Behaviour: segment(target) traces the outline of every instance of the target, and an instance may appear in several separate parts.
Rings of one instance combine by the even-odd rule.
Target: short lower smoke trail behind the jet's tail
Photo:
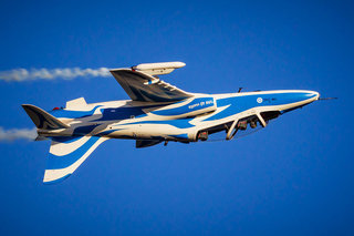
[[[4,130],[0,126],[0,142],[14,140],[33,141],[37,137],[37,129],[11,129]]]

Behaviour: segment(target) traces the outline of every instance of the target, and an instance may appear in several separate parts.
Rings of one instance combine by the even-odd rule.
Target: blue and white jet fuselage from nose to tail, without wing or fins
[[[267,114],[279,115],[317,99],[317,92],[303,90],[195,94],[175,103],[113,101],[50,114],[70,125],[60,136],[197,142],[201,131],[223,124],[222,130],[227,130],[233,121],[257,114],[267,122]],[[50,135],[48,131],[46,135]],[[58,131],[53,135],[59,135]]]

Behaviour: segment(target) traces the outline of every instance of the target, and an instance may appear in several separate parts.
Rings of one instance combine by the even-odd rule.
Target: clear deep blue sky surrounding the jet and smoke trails
[[[0,70],[184,61],[186,91],[305,89],[316,102],[253,135],[136,150],[108,141],[42,184],[49,142],[0,143],[1,235],[353,235],[352,1],[1,1]],[[0,81],[20,107],[128,99],[113,78]]]

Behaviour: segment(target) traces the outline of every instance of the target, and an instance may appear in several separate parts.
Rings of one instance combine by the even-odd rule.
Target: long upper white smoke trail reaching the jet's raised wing
[[[9,71],[0,71],[0,80],[3,81],[33,81],[33,80],[71,80],[79,76],[96,78],[110,76],[110,69],[80,69],[80,68],[63,68],[63,69],[14,69]]]

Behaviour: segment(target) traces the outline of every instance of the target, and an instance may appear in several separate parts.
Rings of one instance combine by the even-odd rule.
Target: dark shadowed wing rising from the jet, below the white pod
[[[116,69],[111,70],[111,73],[133,101],[174,102],[192,96],[192,94],[143,71]]]

